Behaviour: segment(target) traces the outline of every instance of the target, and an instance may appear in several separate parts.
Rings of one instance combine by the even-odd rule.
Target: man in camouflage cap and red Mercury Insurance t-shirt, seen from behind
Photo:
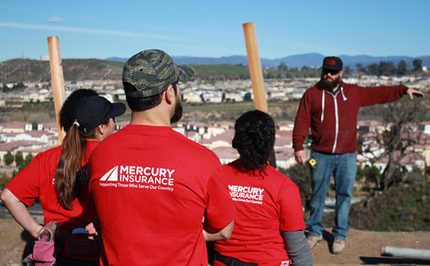
[[[131,122],[90,158],[103,263],[207,265],[205,240],[230,238],[235,209],[220,161],[171,128],[182,115],[178,82],[194,77],[161,50],[124,65]]]

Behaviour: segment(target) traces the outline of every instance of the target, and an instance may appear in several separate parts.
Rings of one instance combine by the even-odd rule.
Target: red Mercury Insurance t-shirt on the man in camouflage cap
[[[128,125],[90,157],[90,192],[109,265],[204,265],[202,219],[232,222],[220,161],[166,126]],[[102,265],[107,263],[102,261]]]

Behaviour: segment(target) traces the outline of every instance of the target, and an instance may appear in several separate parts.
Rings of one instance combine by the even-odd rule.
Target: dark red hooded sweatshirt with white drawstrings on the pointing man
[[[355,153],[358,109],[396,101],[407,89],[404,85],[360,87],[340,82],[333,95],[322,89],[318,82],[301,98],[294,122],[294,151],[303,150],[303,141],[310,127],[313,150],[330,154]]]

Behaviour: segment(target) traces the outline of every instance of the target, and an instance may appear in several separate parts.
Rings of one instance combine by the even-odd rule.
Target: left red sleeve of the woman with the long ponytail
[[[31,206],[39,198],[39,177],[43,170],[40,163],[43,161],[39,155],[34,157],[23,170],[6,184],[6,188],[26,206]]]

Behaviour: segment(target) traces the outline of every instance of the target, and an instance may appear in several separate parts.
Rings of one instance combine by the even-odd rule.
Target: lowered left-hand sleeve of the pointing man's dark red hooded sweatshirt
[[[308,136],[311,126],[311,103],[308,91],[301,98],[299,110],[297,111],[296,121],[293,130],[293,148],[297,152],[303,150],[303,142]]]

